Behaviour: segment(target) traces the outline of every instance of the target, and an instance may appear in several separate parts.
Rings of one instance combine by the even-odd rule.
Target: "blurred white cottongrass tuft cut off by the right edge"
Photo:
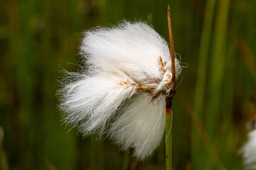
[[[256,130],[248,133],[248,140],[239,150],[246,170],[256,170]]]

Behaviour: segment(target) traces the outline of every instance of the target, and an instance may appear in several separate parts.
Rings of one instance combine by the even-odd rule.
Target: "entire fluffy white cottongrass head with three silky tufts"
[[[85,31],[80,53],[86,68],[68,73],[59,91],[64,122],[84,136],[108,133],[144,160],[164,133],[172,77],[166,41],[144,22],[123,21]],[[178,76],[178,60],[175,67]]]

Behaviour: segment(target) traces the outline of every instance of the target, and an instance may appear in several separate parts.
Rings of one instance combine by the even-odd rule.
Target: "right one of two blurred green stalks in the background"
[[[223,108],[223,80],[224,75],[226,76],[225,70],[225,60],[226,60],[226,29],[228,25],[229,16],[229,3],[230,0],[219,1],[218,13],[216,19],[216,26],[213,35],[212,42],[212,57],[210,61],[210,75],[209,75],[209,100],[208,100],[208,114],[205,117],[205,128],[209,135],[212,143],[216,145],[216,136],[220,129],[220,120],[222,119]],[[223,107],[223,108],[222,108]],[[226,113],[225,113],[226,114]],[[216,145],[217,147],[217,145]],[[218,147],[220,147],[218,145]],[[218,153],[219,154],[219,153]],[[213,170],[222,165],[215,165],[207,156],[207,161],[205,161],[205,169]],[[220,162],[222,163],[222,162]]]

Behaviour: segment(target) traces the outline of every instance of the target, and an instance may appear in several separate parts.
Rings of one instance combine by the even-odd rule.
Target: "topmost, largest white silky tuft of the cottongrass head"
[[[159,57],[171,62],[167,42],[143,22],[123,21],[111,28],[85,31],[80,54],[92,73],[123,70],[144,85],[151,85],[145,77],[161,79]],[[179,60],[175,60],[175,68],[178,76],[181,72]]]

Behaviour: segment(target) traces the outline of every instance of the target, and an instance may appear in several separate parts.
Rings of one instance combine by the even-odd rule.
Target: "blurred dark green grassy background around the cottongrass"
[[[83,30],[123,18],[147,20],[169,41],[168,3],[188,65],[173,103],[173,168],[242,170],[256,115],[255,0],[1,0],[0,169],[126,169],[112,141],[61,126],[58,67],[76,70]],[[137,169],[164,170],[164,143]]]

